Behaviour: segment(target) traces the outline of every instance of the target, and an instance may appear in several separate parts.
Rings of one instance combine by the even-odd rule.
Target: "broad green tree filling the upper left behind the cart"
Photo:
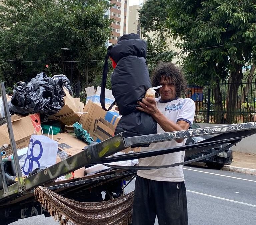
[[[93,60],[104,58],[111,36],[111,20],[105,16],[109,7],[108,0],[5,0],[0,6],[0,59],[17,62],[0,61],[2,79],[12,85],[47,70],[70,78],[70,62],[22,61],[87,60],[73,63],[72,71],[75,80],[92,80],[100,62]]]

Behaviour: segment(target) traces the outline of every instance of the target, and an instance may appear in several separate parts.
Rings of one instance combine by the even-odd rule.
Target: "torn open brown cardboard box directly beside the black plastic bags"
[[[80,102],[80,98],[73,98],[67,89],[63,88],[66,97],[64,97],[64,106],[62,109],[49,116],[48,120],[59,120],[65,125],[73,125],[78,122],[84,109],[84,103]]]

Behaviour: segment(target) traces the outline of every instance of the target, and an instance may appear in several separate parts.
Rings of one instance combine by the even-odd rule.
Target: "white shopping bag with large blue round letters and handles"
[[[50,127],[50,129],[52,131],[52,127]],[[49,167],[56,163],[58,142],[53,140],[53,134],[52,139],[49,138],[50,129],[48,132],[48,137],[43,135],[35,135],[35,132],[33,135],[31,135],[26,159],[22,169],[23,174],[26,176],[28,176],[31,171],[38,167]],[[42,127],[41,131],[43,134]]]

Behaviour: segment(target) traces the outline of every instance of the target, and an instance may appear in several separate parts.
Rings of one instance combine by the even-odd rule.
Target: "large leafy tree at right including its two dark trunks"
[[[147,8],[152,9],[156,2],[148,0]],[[180,64],[188,80],[197,84],[207,81],[211,85],[219,112],[215,118],[217,123],[224,122],[219,82],[229,78],[225,122],[236,122],[234,115],[242,68],[248,62],[255,63],[256,2],[161,0],[158,6],[161,9],[143,15],[142,21],[148,21],[144,23],[147,29],[165,27],[178,41],[176,46],[182,49]]]

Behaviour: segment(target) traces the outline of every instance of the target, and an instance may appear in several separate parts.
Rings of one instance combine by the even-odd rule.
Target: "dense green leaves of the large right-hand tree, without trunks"
[[[254,60],[256,38],[255,4],[250,0],[167,1],[167,26],[177,47],[183,51],[181,63],[192,81],[226,79],[228,73],[240,81],[240,70]],[[243,42],[238,43],[236,42]],[[218,46],[208,48],[211,46]]]

